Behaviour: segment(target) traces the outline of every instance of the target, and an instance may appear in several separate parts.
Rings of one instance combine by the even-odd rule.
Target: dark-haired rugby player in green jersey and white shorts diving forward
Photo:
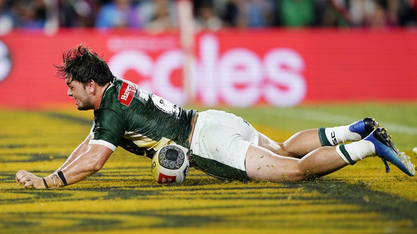
[[[49,176],[18,171],[16,181],[24,187],[75,184],[98,172],[118,146],[152,158],[167,144],[183,149],[191,166],[220,179],[304,180],[374,156],[382,158],[387,172],[387,162],[391,162],[407,175],[415,175],[409,157],[372,118],[304,130],[277,143],[241,117],[216,110],[187,110],[114,77],[103,58],[84,44],[64,52],[63,64],[55,67],[77,109],[94,110],[93,127]]]

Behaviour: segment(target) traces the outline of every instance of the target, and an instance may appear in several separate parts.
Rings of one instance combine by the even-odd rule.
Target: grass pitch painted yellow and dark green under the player
[[[399,149],[417,146],[416,104],[224,110],[281,142],[372,116]],[[417,178],[394,166],[386,174],[377,157],[305,182],[225,182],[191,169],[181,185],[160,185],[149,159],[117,149],[78,184],[24,189],[15,173],[45,177],[63,164],[90,131],[92,111],[0,110],[0,123],[1,234],[417,233]]]

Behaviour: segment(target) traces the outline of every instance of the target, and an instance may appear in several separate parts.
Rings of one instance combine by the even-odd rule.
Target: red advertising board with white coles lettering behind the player
[[[85,42],[114,75],[171,102],[186,102],[177,32],[16,30],[0,38],[0,105],[71,103],[53,64]],[[192,87],[202,105],[417,100],[413,30],[222,30],[196,35]]]

